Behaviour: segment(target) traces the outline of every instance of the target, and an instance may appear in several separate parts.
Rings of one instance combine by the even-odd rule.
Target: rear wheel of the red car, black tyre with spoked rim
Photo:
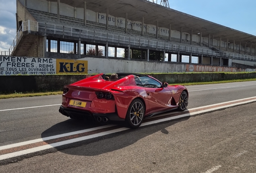
[[[134,99],[130,106],[128,107],[128,111],[126,113],[125,121],[127,125],[136,129],[140,127],[145,115],[145,105],[140,99]]]

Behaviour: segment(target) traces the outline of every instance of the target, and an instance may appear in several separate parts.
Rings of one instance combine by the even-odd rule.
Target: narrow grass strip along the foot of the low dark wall
[[[238,79],[238,80],[223,80],[223,81],[212,81],[212,82],[190,82],[190,83],[176,83],[170,85],[200,85],[200,84],[219,84],[219,83],[230,83],[230,82],[246,82],[254,81],[256,78],[252,79]],[[10,99],[10,98],[19,98],[19,97],[35,97],[35,96],[48,96],[48,95],[61,95],[63,91],[54,91],[54,92],[41,92],[41,93],[12,93],[12,94],[1,94],[0,99]]]

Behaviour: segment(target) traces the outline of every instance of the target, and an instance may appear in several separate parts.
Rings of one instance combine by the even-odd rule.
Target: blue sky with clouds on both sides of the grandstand
[[[160,3],[161,0],[155,0]],[[170,8],[256,35],[255,0],[169,0]],[[0,51],[16,35],[16,0],[0,0]]]

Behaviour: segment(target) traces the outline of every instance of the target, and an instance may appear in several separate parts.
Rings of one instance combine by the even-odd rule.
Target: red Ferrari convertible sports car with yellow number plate
[[[188,90],[169,86],[145,74],[117,73],[109,80],[98,74],[64,86],[59,112],[74,118],[91,117],[98,122],[126,121],[137,128],[146,117],[188,105]]]

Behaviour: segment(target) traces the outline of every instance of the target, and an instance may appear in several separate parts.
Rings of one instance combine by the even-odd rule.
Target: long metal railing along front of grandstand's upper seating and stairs
[[[114,34],[106,34],[102,32],[95,32],[90,30],[83,30],[78,28],[72,28],[67,26],[60,26],[55,24],[47,24],[42,22],[33,22],[26,21],[23,22],[21,28],[17,32],[17,36],[13,41],[13,45],[10,47],[10,52],[13,51],[17,42],[20,40],[22,36],[22,31],[36,31],[36,32],[44,32],[52,33],[52,34],[62,34],[65,36],[74,36],[80,38],[87,38],[91,40],[100,40],[105,42],[113,42],[126,44],[131,46],[144,46],[145,48],[157,48],[167,52],[181,52],[184,54],[194,54],[198,56],[213,56],[217,58],[229,58],[229,59],[238,59],[238,60],[250,60],[256,61],[256,57],[242,55],[242,54],[234,54],[227,52],[218,52],[213,50],[206,50],[201,48],[194,48],[189,46],[175,45],[164,42],[157,42],[152,40],[144,40],[139,38],[131,38],[127,36],[120,36]]]

